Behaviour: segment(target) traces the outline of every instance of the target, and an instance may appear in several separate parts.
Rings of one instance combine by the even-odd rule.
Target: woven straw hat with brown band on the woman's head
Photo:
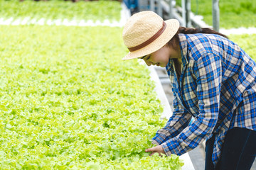
[[[153,11],[142,11],[131,16],[124,26],[122,37],[129,53],[122,60],[149,55],[164,47],[179,28],[178,20],[164,21]]]

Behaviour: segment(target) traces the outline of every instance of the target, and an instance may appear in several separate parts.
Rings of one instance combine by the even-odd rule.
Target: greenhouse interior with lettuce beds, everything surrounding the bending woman
[[[180,155],[145,152],[174,113],[174,92],[165,67],[122,60],[122,32],[153,11],[223,33],[256,61],[256,1],[0,4],[0,169],[205,169],[206,140]]]

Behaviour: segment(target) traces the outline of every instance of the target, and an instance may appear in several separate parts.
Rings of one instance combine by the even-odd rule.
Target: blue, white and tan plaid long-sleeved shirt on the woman
[[[256,64],[234,42],[215,34],[179,34],[181,76],[174,61],[166,70],[174,92],[174,113],[152,143],[167,155],[184,154],[216,133],[217,164],[228,130],[256,130]],[[192,116],[194,119],[191,121]]]

